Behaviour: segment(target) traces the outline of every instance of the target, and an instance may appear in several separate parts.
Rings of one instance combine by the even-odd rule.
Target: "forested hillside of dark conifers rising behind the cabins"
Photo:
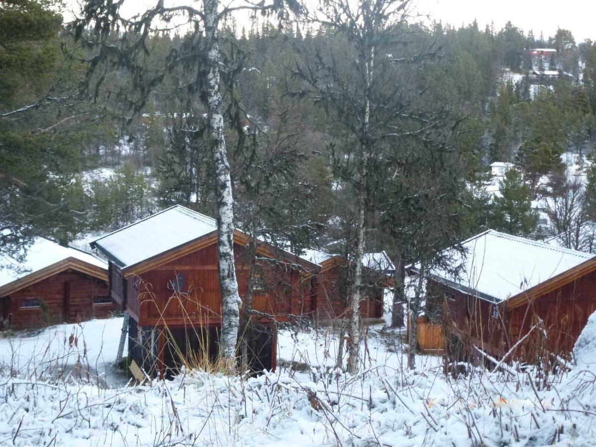
[[[142,54],[129,62],[134,65],[126,66],[105,52],[95,54],[86,32],[76,41],[61,15],[44,5],[7,2],[1,11],[4,28],[11,27],[0,53],[1,221],[11,237],[18,242],[44,234],[67,243],[174,203],[214,214],[207,109],[189,94],[195,75],[183,65],[188,36],[176,27],[149,35]],[[39,27],[17,18],[20,10]],[[243,26],[234,17],[221,25],[237,221],[284,234],[297,249],[353,239],[358,205],[348,198],[353,188],[361,189],[352,179],[366,176],[352,173],[362,163],[345,128],[349,119],[355,125],[361,120],[346,115],[358,106],[341,98],[356,101],[357,90],[322,91],[318,85],[326,70],[338,87],[358,89],[347,61],[359,50],[330,25],[317,23],[255,15]],[[380,36],[386,49],[377,54],[381,73],[370,86],[371,94],[383,98],[373,113],[390,107],[399,117],[378,117],[379,125],[393,130],[374,136],[379,147],[367,167],[374,172],[366,187],[368,247],[394,238],[375,217],[392,194],[385,188],[412,188],[412,179],[421,181],[417,171],[436,163],[432,157],[441,150],[448,159],[440,163],[452,166],[454,175],[431,175],[433,185],[414,188],[447,182],[443,187],[454,194],[454,206],[460,203],[470,213],[454,224],[456,238],[486,226],[510,229],[499,217],[502,204],[475,188],[486,181],[492,162],[515,164],[530,188],[529,200],[542,197],[541,188],[562,169],[562,154],[578,154],[589,166],[596,139],[592,42],[576,44],[568,30],[536,38],[511,23],[502,30],[408,23],[401,33],[411,44],[401,44],[390,31]],[[123,38],[131,51],[139,45],[131,32],[105,37],[114,44]],[[560,79],[530,85],[530,50],[543,47],[557,49],[548,64]],[[173,64],[172,55],[179,62]],[[139,84],[131,89],[133,82]],[[519,234],[565,231],[531,226]]]

